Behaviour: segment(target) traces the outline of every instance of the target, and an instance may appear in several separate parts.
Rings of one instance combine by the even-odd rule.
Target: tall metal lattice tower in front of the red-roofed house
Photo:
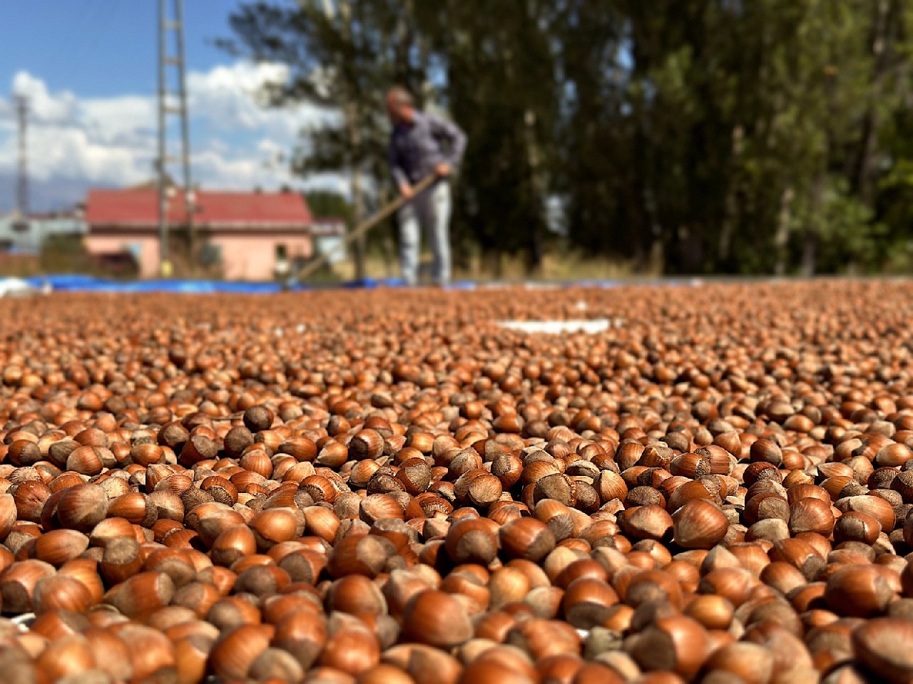
[[[187,88],[184,78],[184,7],[182,0],[172,0],[172,17],[169,18],[168,0],[159,0],[159,260],[163,276],[171,275],[168,238],[168,164],[179,161],[184,171],[184,206],[186,208],[187,238],[190,254],[194,254],[194,188],[190,177],[190,134],[187,123]],[[168,36],[173,35],[175,52],[169,53]],[[168,67],[177,74],[177,90],[168,85]],[[168,116],[176,114],[181,119],[181,154],[168,154]]]

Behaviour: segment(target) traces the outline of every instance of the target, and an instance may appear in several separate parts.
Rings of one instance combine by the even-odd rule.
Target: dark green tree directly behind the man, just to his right
[[[498,274],[501,254],[540,267],[548,240],[559,109],[553,3],[448,0],[421,18],[442,66],[442,102],[469,139],[456,194],[467,233]],[[495,20],[495,17],[498,17]],[[465,227],[469,230],[461,230]]]

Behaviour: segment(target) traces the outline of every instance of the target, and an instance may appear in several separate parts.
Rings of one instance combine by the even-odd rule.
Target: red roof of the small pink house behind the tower
[[[201,228],[305,228],[313,222],[298,192],[196,192],[194,225]],[[168,201],[168,223],[186,222],[184,192]],[[92,227],[155,227],[159,196],[154,188],[91,190],[86,223]]]

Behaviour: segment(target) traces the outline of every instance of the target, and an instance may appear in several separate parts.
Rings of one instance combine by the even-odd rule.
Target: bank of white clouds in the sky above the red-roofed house
[[[194,182],[208,188],[295,187],[342,189],[333,174],[301,179],[278,161],[299,144],[302,130],[316,130],[338,116],[329,109],[302,105],[268,109],[258,95],[264,83],[285,78],[278,65],[247,62],[187,74],[191,113]],[[130,185],[152,177],[157,155],[157,102],[152,95],[80,98],[51,92],[41,78],[20,71],[13,92],[29,99],[29,173],[38,181],[68,177],[104,185]],[[172,123],[176,124],[176,118]],[[177,127],[169,140],[177,150]],[[0,173],[16,169],[16,111],[0,99]],[[180,177],[178,169],[173,169]]]

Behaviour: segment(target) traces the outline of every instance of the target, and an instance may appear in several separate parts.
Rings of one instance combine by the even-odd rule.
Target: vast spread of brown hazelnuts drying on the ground
[[[0,316],[4,681],[913,680],[907,282]]]

